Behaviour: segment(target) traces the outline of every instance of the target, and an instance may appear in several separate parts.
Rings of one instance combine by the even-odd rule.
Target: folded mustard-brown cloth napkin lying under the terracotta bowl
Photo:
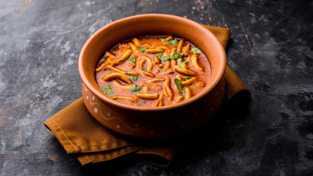
[[[204,25],[226,47],[230,30]],[[235,95],[247,96],[250,91],[230,67],[226,67],[224,103]],[[238,94],[246,92],[248,94]],[[87,111],[79,98],[45,123],[56,135],[65,151],[74,154],[83,166],[131,155],[156,166],[168,166],[188,135],[168,140],[139,140],[120,135],[102,126]]]

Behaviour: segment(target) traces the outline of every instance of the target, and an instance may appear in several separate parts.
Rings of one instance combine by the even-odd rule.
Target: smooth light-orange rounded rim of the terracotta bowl
[[[214,42],[215,44],[217,44],[217,46],[218,46],[217,49],[220,51],[218,53],[221,55],[221,56],[219,56],[219,58],[220,58],[222,64],[220,67],[215,67],[215,69],[217,69],[217,76],[215,76],[214,78],[211,77],[214,79],[213,82],[210,85],[206,85],[206,87],[204,87],[204,89],[202,89],[202,91],[200,91],[199,94],[197,94],[197,96],[194,96],[193,98],[191,98],[189,100],[186,100],[186,101],[183,101],[183,102],[180,102],[177,104],[169,104],[169,105],[166,105],[164,107],[135,107],[135,106],[131,106],[129,104],[123,104],[121,102],[111,100],[111,98],[105,96],[102,92],[100,92],[96,88],[94,88],[91,85],[91,83],[89,83],[89,81],[87,80],[87,76],[85,76],[85,72],[83,72],[83,59],[84,59],[83,55],[84,55],[85,50],[86,50],[87,46],[89,45],[89,43],[91,43],[91,41],[96,39],[98,37],[98,34],[100,34],[100,32],[102,32],[103,30],[106,30],[107,28],[110,28],[112,25],[116,25],[118,23],[124,23],[125,21],[129,21],[131,19],[149,18],[149,17],[160,17],[160,18],[165,17],[165,18],[171,18],[171,19],[174,19],[177,21],[181,21],[181,20],[186,21],[187,23],[190,23],[191,25],[195,25],[196,28],[199,28],[199,30],[202,30],[202,32],[205,32],[206,35],[211,36],[211,37],[209,37],[210,39],[213,39],[211,42]],[[209,58],[208,58],[208,60],[209,60]],[[212,91],[217,86],[217,84],[220,82],[220,80],[222,80],[222,77],[224,76],[225,69],[226,69],[226,53],[225,53],[224,47],[219,42],[219,40],[216,38],[216,36],[211,31],[207,30],[206,28],[204,28],[204,26],[202,26],[201,24],[199,24],[195,21],[192,21],[190,19],[186,19],[184,17],[178,17],[175,15],[171,15],[171,14],[139,14],[139,15],[126,17],[123,19],[119,19],[118,21],[114,21],[112,23],[109,23],[108,25],[105,25],[102,28],[100,28],[100,30],[95,32],[86,41],[86,43],[83,45],[82,50],[80,51],[79,58],[78,58],[78,72],[79,72],[80,78],[83,81],[83,83],[85,84],[85,86],[89,89],[89,91],[92,92],[92,94],[94,94],[97,98],[100,98],[100,100],[107,102],[111,105],[114,105],[115,107],[119,107],[122,109],[135,110],[135,111],[166,111],[166,110],[170,110],[170,109],[183,107],[183,106],[186,106],[187,104],[191,104],[191,103],[199,100],[200,98],[206,96],[207,94],[209,94],[210,91]]]

